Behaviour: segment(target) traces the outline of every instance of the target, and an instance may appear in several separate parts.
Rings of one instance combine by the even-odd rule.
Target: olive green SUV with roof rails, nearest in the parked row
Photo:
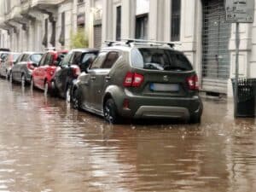
[[[112,42],[79,75],[73,108],[122,119],[201,121],[202,102],[195,70],[173,44]]]

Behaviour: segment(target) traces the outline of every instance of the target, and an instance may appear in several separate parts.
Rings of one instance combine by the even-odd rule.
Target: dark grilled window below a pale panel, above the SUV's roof
[[[136,38],[148,38],[148,14],[136,17]]]

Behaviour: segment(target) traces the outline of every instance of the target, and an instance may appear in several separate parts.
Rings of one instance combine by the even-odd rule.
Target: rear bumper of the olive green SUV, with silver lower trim
[[[129,108],[123,107],[124,100],[129,101]],[[203,105],[200,96],[193,97],[152,97],[120,96],[116,101],[119,115],[131,119],[189,119],[201,117]]]

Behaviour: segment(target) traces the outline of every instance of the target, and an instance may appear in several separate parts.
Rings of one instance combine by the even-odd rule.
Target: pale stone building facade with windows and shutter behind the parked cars
[[[224,0],[1,0],[0,45],[15,51],[69,49],[83,29],[90,47],[105,40],[177,42],[201,79],[201,90],[232,95],[234,24]],[[240,27],[241,77],[256,77],[256,20]]]

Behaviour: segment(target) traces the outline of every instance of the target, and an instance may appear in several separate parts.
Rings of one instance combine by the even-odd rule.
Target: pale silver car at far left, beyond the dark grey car
[[[3,57],[3,61],[0,66],[0,76],[9,79],[9,73],[14,66],[14,63],[19,58],[20,53],[9,53]]]

